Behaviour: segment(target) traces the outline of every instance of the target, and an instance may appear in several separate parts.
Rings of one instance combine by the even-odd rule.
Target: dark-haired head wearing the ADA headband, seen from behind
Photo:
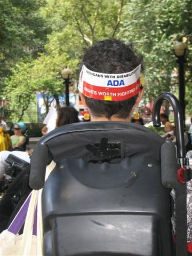
[[[83,72],[92,75],[93,80],[97,80],[95,83],[99,83],[98,76],[105,79],[106,74],[109,74],[108,79],[105,79],[108,81],[106,85],[102,87],[100,80],[100,84],[90,87],[94,89],[97,87],[97,90],[101,89],[100,92],[93,89],[90,95],[90,89],[78,87],[82,101],[85,107],[89,108],[91,117],[105,117],[108,120],[115,117],[130,121],[133,109],[139,105],[143,93],[139,78],[140,70],[143,71],[142,56],[133,49],[133,45],[126,45],[115,38],[100,41],[84,50],[81,68],[83,71],[79,82],[82,81]],[[130,85],[126,86],[126,91],[124,85]],[[84,93],[85,90],[88,93]],[[94,94],[97,94],[97,99]],[[103,96],[99,99],[101,94]]]

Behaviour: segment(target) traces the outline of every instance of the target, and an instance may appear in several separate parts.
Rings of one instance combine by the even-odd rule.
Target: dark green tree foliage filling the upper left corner
[[[0,1],[0,93],[4,78],[11,75],[14,67],[22,58],[37,58],[44,51],[47,33],[51,28],[39,14],[43,6],[37,0]]]

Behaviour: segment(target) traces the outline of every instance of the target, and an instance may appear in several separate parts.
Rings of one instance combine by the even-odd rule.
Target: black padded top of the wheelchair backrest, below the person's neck
[[[99,143],[107,137],[109,142],[122,142],[124,157],[146,156],[159,160],[159,148],[164,139],[148,128],[127,122],[85,122],[69,124],[46,134],[38,144],[45,144],[55,162],[62,158],[89,160],[85,146]]]

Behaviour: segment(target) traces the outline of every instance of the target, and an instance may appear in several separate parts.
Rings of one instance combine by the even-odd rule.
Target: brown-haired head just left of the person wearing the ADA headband
[[[73,107],[60,107],[58,108],[58,116],[56,120],[56,127],[66,124],[78,123],[78,111]]]

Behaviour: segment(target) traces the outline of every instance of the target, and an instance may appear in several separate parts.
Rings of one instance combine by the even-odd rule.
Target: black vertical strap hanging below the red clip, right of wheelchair
[[[175,188],[176,256],[187,256],[187,186],[178,182]]]

